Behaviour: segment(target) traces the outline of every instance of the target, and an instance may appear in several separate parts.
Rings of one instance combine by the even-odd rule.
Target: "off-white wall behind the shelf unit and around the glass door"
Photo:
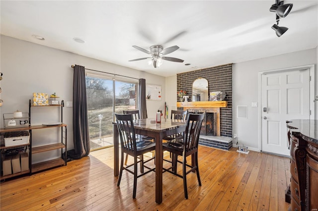
[[[65,103],[73,101],[72,64],[134,78],[145,78],[147,84],[160,85],[163,100],[147,101],[148,117],[155,118],[156,111],[164,108],[164,77],[3,35],[0,36],[0,53],[0,71],[3,72],[3,80],[0,81],[2,88],[0,99],[4,102],[0,107],[1,128],[3,128],[3,113],[12,113],[16,109],[28,112],[28,102],[33,92],[48,94],[55,92]],[[74,148],[73,108],[64,107],[63,115],[63,122],[68,125],[67,138],[68,150],[70,150]],[[45,117],[38,119],[38,122],[41,121],[48,122]],[[41,131],[41,133],[44,132],[46,131]],[[48,135],[43,135],[43,138],[48,139]]]

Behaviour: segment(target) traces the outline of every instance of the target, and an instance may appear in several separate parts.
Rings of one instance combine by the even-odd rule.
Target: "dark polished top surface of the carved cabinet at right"
[[[304,140],[318,144],[318,120],[292,119],[286,123],[292,134],[299,133]]]

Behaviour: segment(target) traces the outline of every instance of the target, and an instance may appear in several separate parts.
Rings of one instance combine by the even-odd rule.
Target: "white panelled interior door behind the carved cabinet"
[[[289,155],[286,120],[310,118],[310,71],[262,75],[262,151]]]

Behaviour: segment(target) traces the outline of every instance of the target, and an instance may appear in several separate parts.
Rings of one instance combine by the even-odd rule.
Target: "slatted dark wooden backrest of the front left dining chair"
[[[121,149],[136,153],[136,135],[132,114],[117,114],[116,122],[118,127]]]

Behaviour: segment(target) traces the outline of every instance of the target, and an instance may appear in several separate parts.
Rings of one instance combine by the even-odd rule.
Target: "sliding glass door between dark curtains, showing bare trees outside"
[[[137,82],[117,81],[104,76],[86,76],[90,150],[113,145],[114,112],[135,110]],[[115,97],[114,97],[115,96]]]

